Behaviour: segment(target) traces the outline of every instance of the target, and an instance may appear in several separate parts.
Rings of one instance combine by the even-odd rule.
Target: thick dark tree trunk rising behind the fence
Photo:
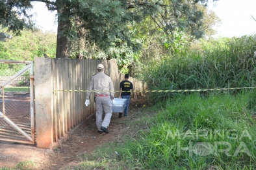
[[[70,9],[58,8],[57,52],[56,58],[68,58],[68,37],[70,30]]]

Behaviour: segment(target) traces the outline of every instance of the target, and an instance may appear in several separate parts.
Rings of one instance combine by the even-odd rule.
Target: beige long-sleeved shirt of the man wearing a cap
[[[90,84],[88,86],[88,92],[86,99],[89,99],[92,91],[96,95],[110,95],[110,99],[114,99],[114,86],[111,78],[108,75],[105,75],[103,72],[99,72],[96,75],[92,76]],[[98,92],[96,92],[98,91]]]

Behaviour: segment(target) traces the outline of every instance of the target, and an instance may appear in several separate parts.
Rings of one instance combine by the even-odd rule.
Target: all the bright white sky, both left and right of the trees
[[[55,25],[56,12],[48,12],[44,3],[33,2],[32,5],[34,5],[34,9],[31,12],[37,13],[33,18],[37,25],[42,30],[57,32],[57,25]],[[214,27],[217,30],[214,37],[239,37],[246,34],[255,34],[256,21],[253,18],[256,19],[256,0],[219,0],[209,3],[208,8],[214,10],[215,14],[222,19],[222,23],[218,27]]]

